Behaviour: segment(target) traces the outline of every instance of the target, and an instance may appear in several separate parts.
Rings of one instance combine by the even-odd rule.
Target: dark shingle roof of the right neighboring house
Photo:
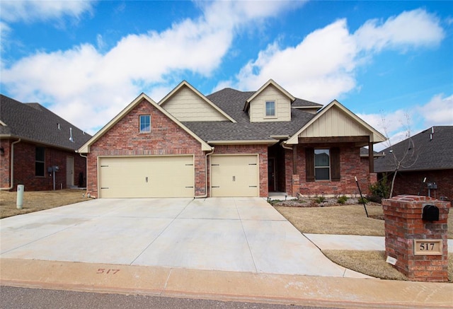
[[[382,151],[374,161],[374,173],[393,172],[396,160],[401,171],[453,169],[453,126],[425,129]],[[403,159],[404,158],[404,159]]]

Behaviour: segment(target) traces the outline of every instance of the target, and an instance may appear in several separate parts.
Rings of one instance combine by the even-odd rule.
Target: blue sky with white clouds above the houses
[[[2,94],[89,134],[183,80],[338,100],[375,150],[453,125],[453,1],[1,0],[0,53]]]

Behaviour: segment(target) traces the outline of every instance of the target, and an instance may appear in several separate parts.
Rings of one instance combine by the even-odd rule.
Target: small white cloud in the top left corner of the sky
[[[30,1],[6,0],[1,1],[1,20],[7,23],[25,21],[46,21],[63,16],[79,18],[82,13],[91,11],[92,1]]]

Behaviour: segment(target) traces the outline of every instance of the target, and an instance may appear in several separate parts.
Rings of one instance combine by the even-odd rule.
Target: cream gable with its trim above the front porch
[[[320,110],[313,119],[287,140],[287,144],[298,144],[299,137],[326,137],[326,136],[369,136],[372,143],[386,141],[386,137],[333,100]]]

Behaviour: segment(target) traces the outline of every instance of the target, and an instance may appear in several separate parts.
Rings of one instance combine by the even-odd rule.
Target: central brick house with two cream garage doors
[[[94,197],[268,197],[356,194],[377,180],[362,146],[385,140],[334,100],[294,98],[275,81],[258,91],[202,95],[183,81],[159,104],[139,95],[96,133]]]

